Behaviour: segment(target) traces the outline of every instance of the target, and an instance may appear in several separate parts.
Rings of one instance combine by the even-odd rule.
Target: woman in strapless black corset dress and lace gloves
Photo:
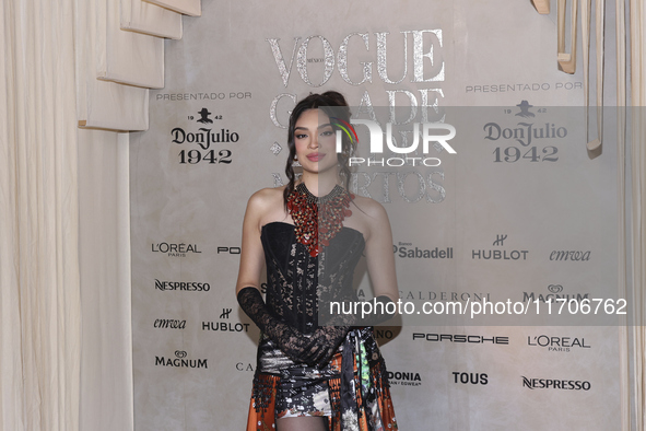
[[[332,316],[337,326],[319,325],[319,300],[356,300],[352,275],[363,254],[377,302],[398,300],[386,211],[347,191],[353,133],[342,133],[337,154],[336,130],[349,130],[349,123],[337,92],[301,101],[289,126],[290,183],[257,191],[247,205],[236,294],[262,331],[248,431],[397,429],[385,363],[366,326],[390,314],[367,322]],[[298,182],[295,161],[303,167]],[[259,291],[263,264],[267,304]]]

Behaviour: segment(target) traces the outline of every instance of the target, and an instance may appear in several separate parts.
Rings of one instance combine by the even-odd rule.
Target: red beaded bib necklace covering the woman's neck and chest
[[[312,257],[321,246],[330,245],[343,228],[343,220],[352,215],[350,202],[354,195],[337,185],[328,195],[316,197],[301,183],[287,198],[287,211],[296,225],[296,241],[307,246]]]

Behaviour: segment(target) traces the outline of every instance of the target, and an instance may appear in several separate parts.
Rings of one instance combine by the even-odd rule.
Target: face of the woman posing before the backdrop
[[[294,126],[294,143],[303,171],[320,174],[337,167],[336,133],[322,110],[301,114]]]

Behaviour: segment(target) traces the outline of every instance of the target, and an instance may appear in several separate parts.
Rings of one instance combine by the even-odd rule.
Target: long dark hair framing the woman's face
[[[336,117],[342,119],[345,123],[350,123],[350,107],[348,106],[348,102],[345,102],[345,97],[343,97],[341,93],[336,91],[327,91],[322,94],[310,94],[298,102],[294,109],[292,109],[292,115],[290,116],[290,128],[287,130],[287,147],[290,148],[290,155],[285,166],[285,174],[287,175],[289,183],[283,193],[285,207],[287,205],[287,198],[290,197],[290,194],[294,190],[294,183],[296,180],[296,174],[294,173],[293,167],[294,156],[296,155],[294,128],[296,127],[296,121],[301,115],[307,109],[321,109],[330,118]],[[338,127],[333,125],[332,128],[334,130],[338,129]],[[345,189],[349,189],[350,166],[348,161],[350,160],[350,154],[354,151],[354,143],[348,138],[345,133],[341,133],[341,137],[342,152],[337,154],[337,156],[339,160],[341,175],[345,177]]]

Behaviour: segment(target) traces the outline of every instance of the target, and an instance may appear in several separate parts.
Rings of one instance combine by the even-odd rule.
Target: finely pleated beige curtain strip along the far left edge
[[[81,350],[73,3],[0,8],[0,428],[77,430]]]

